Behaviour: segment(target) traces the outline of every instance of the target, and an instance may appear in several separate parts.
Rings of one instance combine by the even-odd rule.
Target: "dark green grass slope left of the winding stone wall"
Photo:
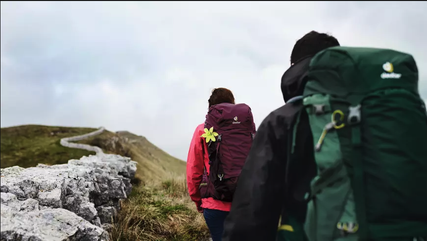
[[[71,149],[59,144],[61,138],[86,134],[96,129],[50,127],[39,125],[16,126],[0,129],[1,168],[18,165],[33,167],[39,163],[54,165],[79,159],[93,152]]]

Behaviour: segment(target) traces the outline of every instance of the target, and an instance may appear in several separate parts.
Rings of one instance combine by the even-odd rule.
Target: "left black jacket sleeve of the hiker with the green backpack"
[[[237,182],[223,241],[273,241],[285,196],[287,135],[273,111],[261,123]]]

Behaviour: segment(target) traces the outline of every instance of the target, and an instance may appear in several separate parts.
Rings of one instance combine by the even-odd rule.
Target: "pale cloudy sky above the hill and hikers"
[[[426,1],[1,1],[1,127],[100,127],[185,160],[213,88],[257,127],[311,30],[341,45],[411,53],[427,100]]]

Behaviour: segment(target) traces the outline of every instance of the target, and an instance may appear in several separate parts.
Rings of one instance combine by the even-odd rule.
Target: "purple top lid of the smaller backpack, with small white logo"
[[[206,115],[205,128],[219,129],[246,128],[251,129],[253,119],[251,108],[246,104],[221,103],[211,106]]]

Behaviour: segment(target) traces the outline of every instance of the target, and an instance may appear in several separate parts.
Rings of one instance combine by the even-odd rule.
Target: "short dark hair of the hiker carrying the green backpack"
[[[311,31],[295,43],[290,55],[290,63],[294,64],[305,57],[314,56],[321,50],[333,46],[339,46],[338,40],[333,36]]]

